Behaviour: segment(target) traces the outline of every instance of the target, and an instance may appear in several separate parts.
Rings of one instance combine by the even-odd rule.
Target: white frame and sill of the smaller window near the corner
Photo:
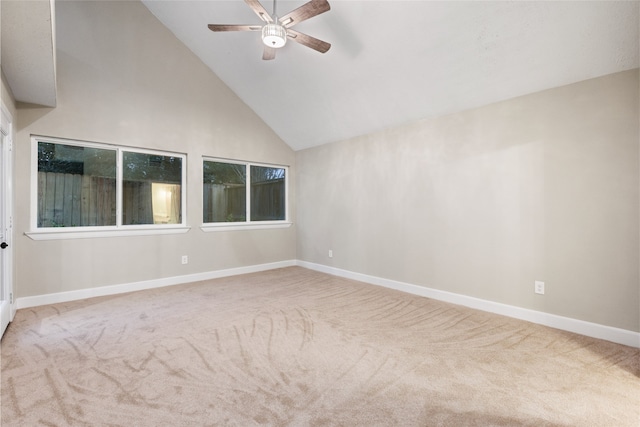
[[[244,161],[237,159],[225,159],[220,157],[203,156],[200,165],[202,167],[202,174],[200,176],[200,184],[202,185],[202,191],[200,192],[201,202],[204,208],[204,162],[217,162],[227,163],[234,165],[243,165],[246,168],[246,185],[245,185],[245,210],[246,220],[237,222],[204,222],[204,210],[202,211],[202,225],[200,229],[205,232],[212,231],[238,231],[238,230],[259,230],[269,228],[287,228],[292,225],[289,211],[289,166],[274,164],[274,163],[261,163]],[[251,220],[251,166],[277,168],[284,169],[284,219],[281,220],[269,220],[269,221],[252,221]]]

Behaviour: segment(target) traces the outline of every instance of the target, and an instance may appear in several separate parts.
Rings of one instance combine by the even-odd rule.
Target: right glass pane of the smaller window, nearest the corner
[[[284,168],[251,166],[251,221],[285,219]]]

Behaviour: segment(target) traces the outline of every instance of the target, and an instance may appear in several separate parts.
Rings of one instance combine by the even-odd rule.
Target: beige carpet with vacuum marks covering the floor
[[[640,351],[293,267],[19,310],[2,426],[634,426]]]

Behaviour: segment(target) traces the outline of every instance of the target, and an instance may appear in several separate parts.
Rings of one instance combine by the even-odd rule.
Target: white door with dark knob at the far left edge
[[[1,109],[0,122],[0,336],[13,319],[11,117]]]

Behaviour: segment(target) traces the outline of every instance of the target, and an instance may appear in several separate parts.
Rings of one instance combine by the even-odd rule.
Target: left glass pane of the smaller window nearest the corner
[[[203,222],[247,220],[247,167],[204,161]]]

